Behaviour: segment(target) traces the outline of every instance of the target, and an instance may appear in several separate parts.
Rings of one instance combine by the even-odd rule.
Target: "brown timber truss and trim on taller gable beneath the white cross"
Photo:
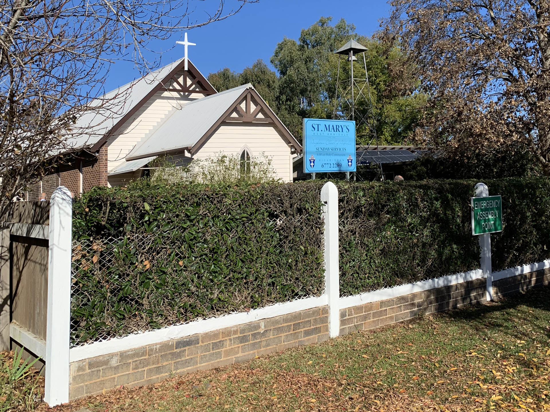
[[[182,85],[182,82],[180,82],[177,79],[177,74],[180,70],[184,69],[184,66],[185,66],[185,59],[182,59],[182,61],[177,65],[175,65],[172,71],[168,73],[168,75],[166,75],[164,79],[156,83],[156,85],[154,86],[152,85],[152,88],[149,91],[149,93],[147,93],[145,97],[138,102],[138,104],[134,105],[134,107],[131,108],[127,114],[122,116],[122,118],[120,118],[117,121],[117,123],[114,124],[111,130],[105,133],[105,135],[90,148],[90,151],[92,153],[97,152],[103,146],[103,144],[107,142],[108,138],[114,135],[119,129],[119,127],[121,127],[124,123],[126,123],[131,118],[131,116],[136,114],[136,112],[138,112],[138,110],[145,103],[147,103],[149,99],[151,99],[151,97],[155,96],[155,93],[157,93],[158,91],[162,90],[162,91],[179,92],[179,93],[186,93],[186,94],[200,93],[200,94],[204,94],[205,96],[210,96],[211,94],[217,93],[216,89],[210,84],[210,82],[208,82],[208,80],[205,79],[205,77],[201,74],[201,72],[197,70],[194,64],[191,63],[190,61],[188,61],[188,71],[186,71],[183,76],[184,84]],[[191,77],[191,79],[193,79],[189,83],[189,85],[187,84],[188,77]]]

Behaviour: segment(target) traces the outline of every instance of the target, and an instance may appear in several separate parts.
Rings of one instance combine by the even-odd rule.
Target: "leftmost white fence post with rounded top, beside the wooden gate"
[[[50,199],[50,251],[44,400],[54,407],[69,402],[70,285],[73,199],[59,186]]]

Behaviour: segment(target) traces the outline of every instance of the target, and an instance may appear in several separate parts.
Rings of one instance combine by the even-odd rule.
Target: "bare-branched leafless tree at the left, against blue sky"
[[[104,109],[98,98],[111,63],[131,59],[146,74],[160,60],[151,42],[226,19],[256,1],[4,0],[0,216],[29,183],[62,161],[52,154],[65,151],[79,115]]]

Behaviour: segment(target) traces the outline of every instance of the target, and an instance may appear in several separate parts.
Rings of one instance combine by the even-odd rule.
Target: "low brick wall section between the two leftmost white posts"
[[[169,374],[218,368],[328,339],[328,307],[250,322],[70,364],[70,398],[120,385],[148,385]]]

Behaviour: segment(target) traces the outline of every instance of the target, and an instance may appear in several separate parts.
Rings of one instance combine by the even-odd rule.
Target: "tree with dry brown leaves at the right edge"
[[[383,21],[431,95],[419,138],[466,156],[514,141],[550,175],[550,1],[392,0]]]

